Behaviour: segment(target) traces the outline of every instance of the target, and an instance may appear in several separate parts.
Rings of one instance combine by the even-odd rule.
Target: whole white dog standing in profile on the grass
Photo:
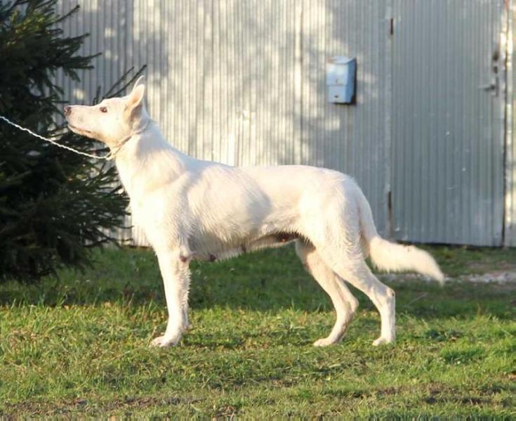
[[[412,270],[442,282],[430,254],[383,240],[371,208],[349,176],[329,169],[284,165],[228,167],[196,160],[168,143],[143,105],[136,82],[123,98],[65,107],[72,131],[95,138],[115,155],[133,221],[154,248],[163,276],[168,324],[155,346],[175,345],[187,328],[189,264],[296,242],[305,268],[329,294],[336,323],[315,346],[343,337],[358,302],[344,281],[364,292],[381,315],[381,336],[395,340],[395,293],[366,266]]]

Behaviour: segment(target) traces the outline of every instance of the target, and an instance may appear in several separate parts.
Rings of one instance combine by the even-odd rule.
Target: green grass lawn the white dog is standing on
[[[432,247],[451,276],[514,268],[516,250]],[[193,330],[166,324],[146,250],[95,252],[85,273],[0,285],[0,416],[516,415],[515,284],[389,282],[394,346],[371,346],[363,294],[348,335],[315,348],[331,304],[291,248],[192,264]]]

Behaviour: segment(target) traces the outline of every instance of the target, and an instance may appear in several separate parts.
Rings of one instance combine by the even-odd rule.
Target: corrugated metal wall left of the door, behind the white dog
[[[81,0],[68,34],[102,51],[84,83],[91,101],[126,67],[147,64],[147,105],[180,150],[227,164],[303,163],[355,176],[385,229],[388,21],[366,1]],[[106,9],[107,6],[107,9]],[[72,7],[62,1],[60,12]],[[326,103],[325,63],[357,56],[357,104]],[[373,169],[371,171],[371,169]],[[135,240],[142,242],[140,233]]]

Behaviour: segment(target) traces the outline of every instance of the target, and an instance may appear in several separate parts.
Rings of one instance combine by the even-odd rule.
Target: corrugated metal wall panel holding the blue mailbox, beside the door
[[[378,230],[387,228],[390,174],[388,2],[305,0],[302,8],[300,162],[357,179]],[[357,57],[357,103],[327,102],[326,60]]]

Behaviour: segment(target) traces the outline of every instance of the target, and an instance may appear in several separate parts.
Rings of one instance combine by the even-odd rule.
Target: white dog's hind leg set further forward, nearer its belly
[[[348,325],[355,315],[358,300],[353,297],[343,280],[324,263],[313,245],[307,244],[303,242],[303,240],[297,240],[296,252],[308,273],[317,280],[317,283],[319,283],[326,294],[329,295],[337,313],[336,322],[330,335],[318,339],[314,345],[327,346],[336,344],[342,339]]]

